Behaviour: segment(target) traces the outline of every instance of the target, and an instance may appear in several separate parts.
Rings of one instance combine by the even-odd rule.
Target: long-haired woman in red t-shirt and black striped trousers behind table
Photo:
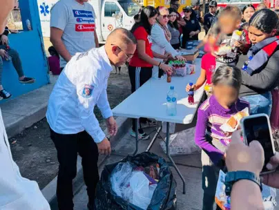
[[[158,11],[152,6],[145,7],[140,13],[140,21],[135,23],[132,27],[131,32],[137,39],[137,50],[128,66],[128,73],[132,86],[132,93],[140,88],[145,82],[152,77],[152,68],[153,66],[158,66],[164,72],[171,72],[172,69],[170,66],[156,61],[154,57],[159,59],[167,59],[168,55],[160,55],[151,50],[152,41],[151,41],[151,28],[156,22]],[[140,119],[140,122],[145,124],[152,124],[148,119]],[[131,131],[131,136],[135,137],[135,126],[136,120],[133,120],[133,127]],[[144,133],[141,128],[139,129],[139,139],[147,140],[148,135]]]

